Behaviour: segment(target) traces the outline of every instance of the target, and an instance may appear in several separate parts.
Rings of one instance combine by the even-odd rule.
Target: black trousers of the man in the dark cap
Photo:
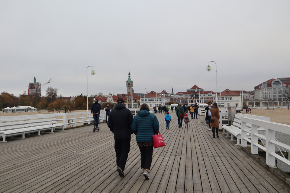
[[[124,170],[130,152],[131,139],[115,139],[115,152],[117,166]]]

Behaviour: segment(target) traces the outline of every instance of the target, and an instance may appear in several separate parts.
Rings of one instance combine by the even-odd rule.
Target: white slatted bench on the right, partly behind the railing
[[[241,145],[240,140],[241,140],[241,117],[252,117],[255,119],[262,119],[262,120],[270,120],[269,117],[262,117],[262,116],[256,116],[256,115],[246,115],[246,114],[236,114],[234,117],[234,122],[233,125],[223,125],[223,134],[226,134],[226,137],[231,137],[230,141],[236,141],[234,140],[234,137],[237,138],[237,144],[236,145]],[[251,130],[251,125],[247,123],[247,129],[250,131]],[[265,131],[264,128],[259,128],[259,131]],[[229,133],[231,134],[229,136]],[[247,132],[247,136],[250,136],[250,133]]]

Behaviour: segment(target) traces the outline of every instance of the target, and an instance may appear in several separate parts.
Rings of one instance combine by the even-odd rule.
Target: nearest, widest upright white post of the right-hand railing
[[[271,139],[275,140],[275,131],[266,128],[266,164],[268,166],[276,166],[275,157],[270,155],[271,152],[275,153],[275,144],[269,142]]]

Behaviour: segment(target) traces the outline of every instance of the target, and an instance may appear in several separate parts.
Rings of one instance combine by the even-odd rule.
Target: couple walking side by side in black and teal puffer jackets
[[[156,115],[150,113],[149,106],[143,103],[138,115],[133,115],[125,107],[122,98],[118,98],[114,109],[109,113],[108,127],[114,134],[117,172],[124,176],[124,169],[130,152],[131,134],[136,135],[137,146],[140,150],[142,173],[145,179],[149,178],[153,155],[152,136],[159,131],[159,122]]]

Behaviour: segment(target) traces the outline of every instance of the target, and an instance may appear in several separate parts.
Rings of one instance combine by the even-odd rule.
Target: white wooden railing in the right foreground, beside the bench
[[[251,124],[251,129],[247,128],[247,123]],[[259,134],[258,128],[265,128],[265,134]],[[290,161],[285,159],[276,153],[276,146],[282,147],[283,149],[290,150],[290,146],[281,143],[275,139],[275,131],[281,132],[283,134],[290,134],[290,125],[285,125],[281,123],[275,123],[270,121],[264,121],[259,119],[254,119],[250,117],[241,117],[241,144],[242,147],[247,147],[247,142],[251,144],[252,154],[258,154],[258,149],[266,151],[266,164],[268,166],[276,166],[275,158],[281,160],[288,166],[290,166]],[[247,137],[247,132],[251,134],[251,137]],[[258,138],[266,141],[265,146],[258,143]]]

